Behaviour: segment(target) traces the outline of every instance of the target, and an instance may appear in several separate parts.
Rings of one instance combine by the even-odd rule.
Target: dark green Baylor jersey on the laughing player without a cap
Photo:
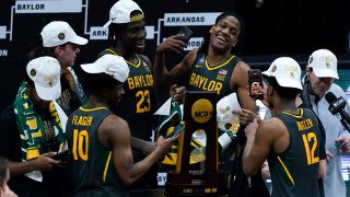
[[[217,101],[234,92],[231,86],[231,77],[234,67],[241,61],[231,56],[222,63],[209,67],[205,55],[198,55],[190,68],[186,90],[212,91],[217,93]]]

